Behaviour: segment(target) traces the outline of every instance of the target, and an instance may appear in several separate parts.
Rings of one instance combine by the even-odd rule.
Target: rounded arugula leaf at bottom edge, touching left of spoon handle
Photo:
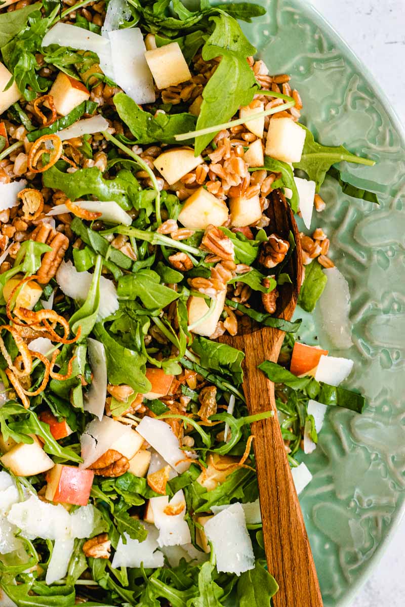
[[[278,589],[273,575],[256,561],[254,569],[243,572],[237,583],[239,607],[270,607]]]

